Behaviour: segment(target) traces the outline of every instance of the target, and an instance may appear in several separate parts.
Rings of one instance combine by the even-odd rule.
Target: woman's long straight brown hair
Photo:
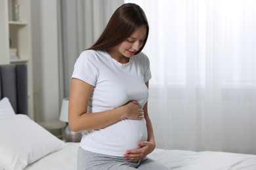
[[[144,48],[148,39],[148,20],[139,5],[135,3],[125,3],[116,9],[98,40],[88,49],[108,50],[123,42],[142,25],[146,26],[146,38],[144,44],[136,54]]]

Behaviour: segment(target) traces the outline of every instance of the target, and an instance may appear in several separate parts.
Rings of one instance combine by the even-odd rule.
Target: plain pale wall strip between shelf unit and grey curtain
[[[59,115],[57,0],[31,1],[35,121]]]

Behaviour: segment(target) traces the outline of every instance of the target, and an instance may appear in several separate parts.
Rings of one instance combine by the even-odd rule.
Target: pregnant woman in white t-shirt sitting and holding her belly
[[[72,75],[69,125],[83,131],[77,169],[167,169],[146,156],[156,146],[148,116],[150,62],[141,52],[148,22],[139,5],[121,5]]]

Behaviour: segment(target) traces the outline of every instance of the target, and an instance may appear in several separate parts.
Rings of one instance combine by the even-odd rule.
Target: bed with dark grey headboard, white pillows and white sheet
[[[26,65],[0,65],[0,170],[76,169],[79,143],[64,143],[28,117]],[[256,169],[256,155],[156,148],[170,169]]]

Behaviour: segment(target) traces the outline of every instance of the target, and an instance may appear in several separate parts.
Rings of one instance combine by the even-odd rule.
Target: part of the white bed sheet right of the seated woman
[[[175,170],[256,170],[256,155],[156,149],[148,155]]]

